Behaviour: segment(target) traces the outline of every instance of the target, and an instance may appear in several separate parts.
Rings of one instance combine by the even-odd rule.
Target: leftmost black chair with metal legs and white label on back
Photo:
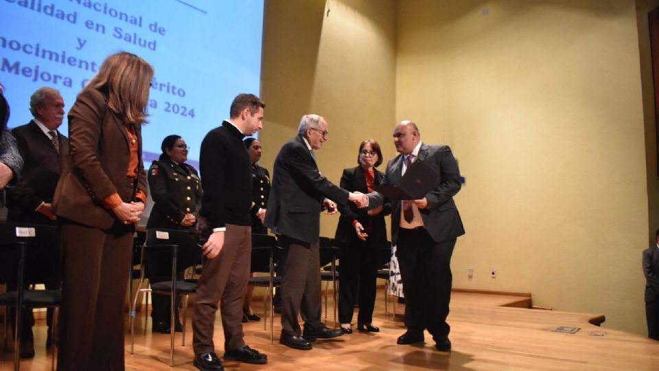
[[[51,368],[55,369],[55,328],[58,307],[62,304],[60,290],[29,290],[25,288],[25,270],[30,251],[43,251],[58,243],[57,227],[49,225],[3,224],[0,225],[0,282],[16,286],[16,290],[0,294],[0,305],[5,311],[5,351],[7,350],[9,308],[16,309],[14,321],[14,370],[21,361],[21,325],[23,308],[54,308],[51,326]]]

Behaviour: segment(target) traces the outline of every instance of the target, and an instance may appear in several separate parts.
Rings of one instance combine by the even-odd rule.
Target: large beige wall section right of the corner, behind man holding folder
[[[397,15],[396,117],[450,144],[466,178],[454,286],[529,291],[642,333],[634,2],[400,1]]]

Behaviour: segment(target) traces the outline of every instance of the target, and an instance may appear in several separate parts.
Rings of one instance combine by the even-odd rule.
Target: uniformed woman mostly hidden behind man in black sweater
[[[263,225],[263,219],[266,217],[268,195],[270,194],[270,172],[258,164],[262,154],[261,143],[252,137],[245,139],[244,142],[252,161],[252,207],[249,210],[252,217],[252,233],[268,234],[268,228]],[[264,267],[252,267],[251,271],[262,271],[263,269]],[[242,322],[261,319],[254,314],[251,308],[253,291],[254,286],[247,287],[242,308]]]

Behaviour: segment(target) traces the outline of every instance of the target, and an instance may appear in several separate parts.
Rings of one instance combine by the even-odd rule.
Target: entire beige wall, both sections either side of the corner
[[[659,186],[646,171],[654,111],[636,12],[634,1],[266,0],[263,163],[300,115],[319,113],[331,132],[319,165],[338,182],[361,139],[389,159],[393,123],[415,120],[466,178],[454,286],[529,291],[644,333],[640,251]],[[336,216],[322,220],[332,236]]]

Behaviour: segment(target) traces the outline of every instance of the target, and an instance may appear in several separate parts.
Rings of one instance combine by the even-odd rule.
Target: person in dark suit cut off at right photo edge
[[[655,245],[643,250],[643,274],[647,337],[659,340],[659,229],[655,238]]]

